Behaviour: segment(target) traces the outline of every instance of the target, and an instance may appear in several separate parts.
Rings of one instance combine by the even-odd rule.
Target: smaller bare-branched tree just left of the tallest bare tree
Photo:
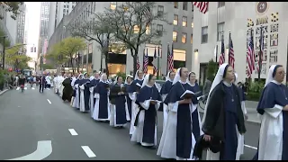
[[[67,29],[74,37],[81,37],[89,41],[95,40],[99,44],[98,48],[101,50],[101,54],[105,57],[106,74],[109,76],[108,53],[113,52],[119,54],[126,49],[126,46],[119,41],[117,42],[115,39],[113,35],[115,30],[112,28],[111,24],[107,22],[108,17],[105,14],[98,13],[94,14],[94,16],[93,20],[87,22],[71,23]]]

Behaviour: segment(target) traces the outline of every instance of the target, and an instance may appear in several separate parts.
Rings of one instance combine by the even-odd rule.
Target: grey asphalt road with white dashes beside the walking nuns
[[[162,134],[162,112],[158,112],[157,140]],[[51,90],[40,94],[30,87],[0,96],[0,159],[31,154],[40,140],[51,140],[52,153],[45,160],[161,160],[156,149],[130,142],[129,128],[115,129],[96,122],[63,103]],[[259,125],[247,122],[246,144],[257,147]],[[73,134],[73,135],[72,135]],[[241,159],[251,159],[255,148],[245,147]],[[88,157],[90,156],[90,157]]]

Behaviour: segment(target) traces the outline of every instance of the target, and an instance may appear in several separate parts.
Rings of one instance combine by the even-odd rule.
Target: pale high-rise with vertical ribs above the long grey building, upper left
[[[49,31],[48,38],[51,37],[55,28],[62,18],[70,14],[75,7],[76,2],[49,2]]]

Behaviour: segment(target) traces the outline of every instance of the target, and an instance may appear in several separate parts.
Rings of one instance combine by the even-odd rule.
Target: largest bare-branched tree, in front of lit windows
[[[160,22],[171,24],[166,21],[166,13],[153,14],[152,10],[155,8],[155,2],[123,2],[115,9],[106,9],[104,12],[108,17],[105,22],[114,30],[116,39],[121,40],[127,49],[130,49],[134,75],[137,69],[139,46],[144,43],[161,44],[158,38],[165,33],[151,28],[156,27]]]

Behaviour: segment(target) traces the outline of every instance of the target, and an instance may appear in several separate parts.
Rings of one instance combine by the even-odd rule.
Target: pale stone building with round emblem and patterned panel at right
[[[193,28],[193,71],[200,74],[199,82],[204,81],[205,65],[214,56],[218,45],[218,62],[220,56],[220,37],[224,33],[226,62],[228,62],[229,31],[233,41],[235,70],[238,81],[247,78],[247,44],[252,37],[256,60],[260,45],[260,29],[264,31],[264,54],[260,77],[266,78],[268,69],[273,64],[287,66],[288,49],[288,4],[282,2],[210,2],[206,14],[194,12]],[[257,62],[255,62],[257,66]],[[257,70],[251,78],[257,79]],[[286,76],[287,79],[287,76]]]

